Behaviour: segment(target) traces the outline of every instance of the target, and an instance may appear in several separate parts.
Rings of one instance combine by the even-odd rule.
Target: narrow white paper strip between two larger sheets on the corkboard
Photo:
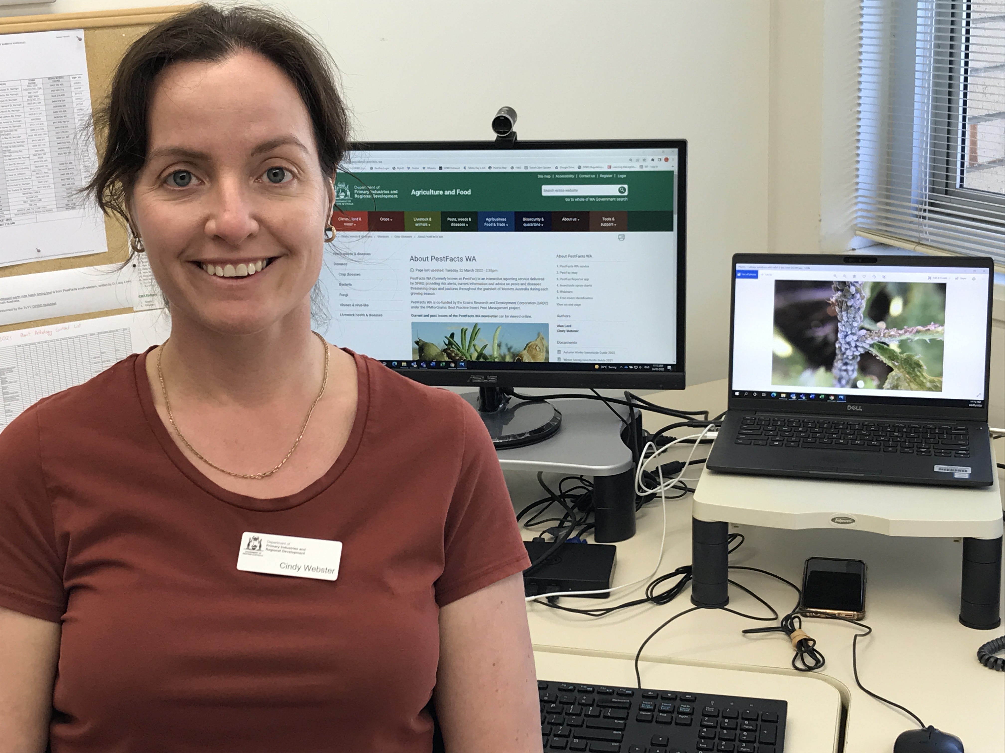
[[[145,311],[163,305],[147,257],[142,254],[125,267],[109,264],[0,277],[0,326],[116,308]]]

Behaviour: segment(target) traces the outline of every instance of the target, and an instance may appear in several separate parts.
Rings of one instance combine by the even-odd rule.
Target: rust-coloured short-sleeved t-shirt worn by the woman
[[[438,609],[529,562],[457,396],[356,355],[324,477],[207,479],[133,355],[0,435],[0,605],[62,622],[52,753],[428,751]],[[236,569],[244,531],[343,542],[336,581]]]

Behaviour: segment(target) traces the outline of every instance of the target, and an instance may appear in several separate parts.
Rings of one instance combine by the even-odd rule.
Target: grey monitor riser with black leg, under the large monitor
[[[462,393],[461,397],[477,408],[481,393]],[[594,541],[613,543],[634,536],[635,464],[621,438],[623,427],[617,417],[604,404],[591,400],[563,401],[561,414],[547,403],[521,402],[510,410],[520,413],[531,409],[540,411],[538,420],[552,413],[558,420],[547,442],[506,448],[496,445],[502,470],[592,477]],[[484,413],[481,416],[485,418]],[[491,414],[485,425],[490,421]],[[558,431],[560,425],[562,431]]]

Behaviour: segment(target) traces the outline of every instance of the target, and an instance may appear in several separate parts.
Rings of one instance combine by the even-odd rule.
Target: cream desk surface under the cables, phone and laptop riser
[[[725,382],[720,382],[650,399],[684,410],[709,408],[718,413],[723,410],[725,392]],[[651,415],[645,423],[648,429],[661,425],[659,417]],[[1005,456],[1000,443],[997,450],[999,457]],[[507,481],[518,507],[541,496],[533,474],[508,472]],[[666,541],[659,573],[690,562],[690,520],[689,497],[667,501]],[[617,545],[615,585],[642,578],[652,571],[659,554],[662,523],[658,501],[649,503],[639,513],[638,533]],[[1005,750],[1005,676],[985,669],[975,658],[978,647],[999,636],[1001,631],[972,631],[957,618],[961,541],[888,537],[854,530],[788,531],[749,525],[734,525],[731,531],[746,536],[744,545],[731,557],[731,565],[762,567],[796,583],[801,580],[803,561],[808,556],[863,559],[868,565],[865,622],[874,631],[872,636],[858,642],[859,676],[865,686],[907,706],[926,724],[960,736],[968,753]],[[525,535],[530,538],[533,533],[527,531]],[[795,604],[795,592],[773,578],[745,571],[733,571],[731,578],[752,588],[783,614]],[[610,599],[564,601],[574,606],[606,606],[637,598],[641,592],[641,587],[635,587]],[[633,656],[646,636],[662,621],[689,607],[688,594],[689,591],[684,591],[663,606],[636,606],[599,618],[530,604],[531,634],[539,652],[573,651],[623,660],[626,655]],[[731,607],[752,614],[766,613],[762,605],[739,589],[731,586],[730,595]],[[646,664],[642,682],[658,685],[661,678],[672,678],[677,665],[666,662],[735,670],[791,670],[793,652],[784,636],[741,635],[746,628],[762,624],[767,623],[719,610],[685,614],[663,629],[646,647],[643,657],[653,661]],[[848,708],[845,750],[889,753],[896,736],[911,729],[914,722],[901,712],[868,698],[855,686],[851,638],[856,629],[825,619],[808,619],[804,629],[817,640],[817,648],[827,659],[822,672],[815,674],[825,676],[840,689]],[[651,669],[657,665],[658,669]],[[801,748],[787,750],[796,753]]]

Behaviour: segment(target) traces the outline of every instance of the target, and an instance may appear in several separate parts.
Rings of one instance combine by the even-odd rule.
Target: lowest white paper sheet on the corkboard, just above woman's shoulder
[[[163,342],[165,309],[0,332],[0,431],[42,398]]]

